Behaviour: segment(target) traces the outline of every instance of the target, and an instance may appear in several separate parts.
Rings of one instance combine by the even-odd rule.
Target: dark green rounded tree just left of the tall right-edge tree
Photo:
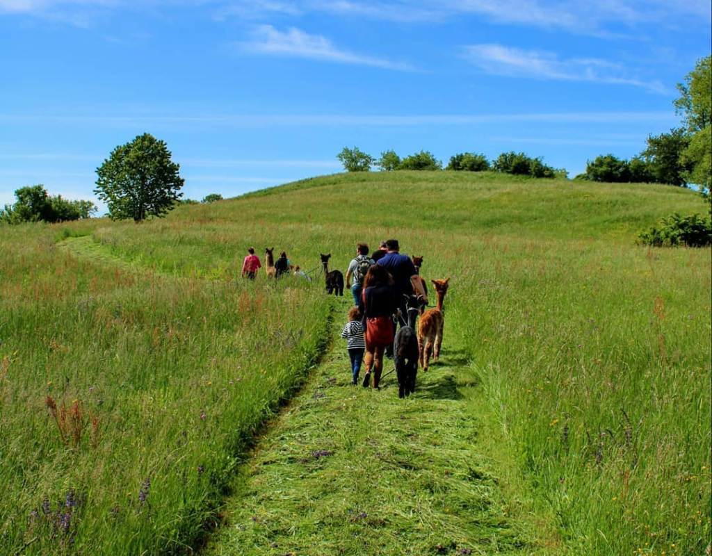
[[[692,169],[682,158],[688,145],[689,135],[681,127],[669,133],[649,135],[648,147],[641,154],[649,164],[652,181],[684,186],[686,174]]]

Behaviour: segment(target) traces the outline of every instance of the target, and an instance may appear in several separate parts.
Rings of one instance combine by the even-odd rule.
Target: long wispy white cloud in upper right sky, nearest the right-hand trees
[[[667,92],[659,81],[632,78],[619,63],[599,58],[562,60],[555,53],[511,48],[501,44],[469,45],[464,48],[464,56],[476,67],[493,75],[633,85],[654,93]]]

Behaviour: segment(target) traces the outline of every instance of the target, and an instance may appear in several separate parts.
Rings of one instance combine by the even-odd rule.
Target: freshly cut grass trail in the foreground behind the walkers
[[[241,468],[210,556],[554,552],[486,455],[494,427],[464,351],[446,348],[401,400],[394,373],[352,386],[341,344]]]

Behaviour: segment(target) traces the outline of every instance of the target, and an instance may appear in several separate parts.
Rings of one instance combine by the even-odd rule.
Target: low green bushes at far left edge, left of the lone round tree
[[[16,203],[0,210],[0,222],[66,222],[89,218],[97,209],[91,201],[69,201],[61,195],[50,196],[43,185],[16,189]]]

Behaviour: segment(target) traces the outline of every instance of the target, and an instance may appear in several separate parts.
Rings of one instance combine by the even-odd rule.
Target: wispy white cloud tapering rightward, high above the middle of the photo
[[[412,65],[385,58],[365,56],[337,48],[322,35],[310,35],[298,28],[278,31],[271,25],[258,26],[250,41],[238,43],[247,52],[268,56],[289,56],[335,63],[370,65],[387,70],[413,71]]]

